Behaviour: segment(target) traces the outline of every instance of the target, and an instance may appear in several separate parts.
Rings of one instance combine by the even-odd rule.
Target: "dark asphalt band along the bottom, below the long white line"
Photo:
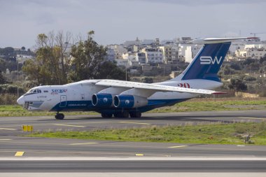
[[[239,160],[27,160],[0,161],[4,172],[266,172],[266,161]]]

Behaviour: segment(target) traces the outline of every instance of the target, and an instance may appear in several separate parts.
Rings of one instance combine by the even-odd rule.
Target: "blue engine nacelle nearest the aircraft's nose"
[[[113,98],[111,94],[93,94],[92,105],[97,107],[112,106]]]

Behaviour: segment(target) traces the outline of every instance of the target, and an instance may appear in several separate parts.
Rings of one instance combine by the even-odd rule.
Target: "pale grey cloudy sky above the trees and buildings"
[[[266,0],[0,0],[0,48],[33,48],[38,34],[94,30],[101,45],[182,36],[257,34],[266,40]]]

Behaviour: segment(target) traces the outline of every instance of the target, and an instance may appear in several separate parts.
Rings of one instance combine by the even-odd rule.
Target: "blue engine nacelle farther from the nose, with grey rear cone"
[[[113,98],[113,105],[116,108],[139,108],[147,104],[148,99],[134,95],[121,94]]]

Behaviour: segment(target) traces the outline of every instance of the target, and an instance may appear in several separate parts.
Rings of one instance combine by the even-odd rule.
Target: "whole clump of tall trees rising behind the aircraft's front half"
[[[90,31],[86,41],[71,45],[71,52],[67,51],[71,39],[69,33],[39,34],[36,59],[27,60],[22,70],[29,80],[43,85],[62,85],[92,78],[125,80],[125,71],[105,60],[106,48],[93,40],[93,34],[94,31]]]

